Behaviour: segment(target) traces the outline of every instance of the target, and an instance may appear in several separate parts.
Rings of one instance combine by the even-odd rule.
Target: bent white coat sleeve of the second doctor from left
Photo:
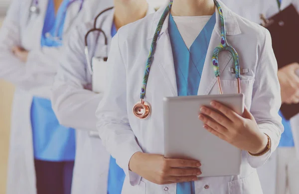
[[[62,51],[63,56],[55,77],[51,100],[61,125],[96,131],[95,112],[103,95],[84,89],[89,84],[84,37],[91,27],[92,25],[87,27],[84,24],[84,27],[80,26],[70,35],[72,38]],[[93,35],[91,33],[89,37]],[[88,45],[94,44],[95,42],[90,42]]]

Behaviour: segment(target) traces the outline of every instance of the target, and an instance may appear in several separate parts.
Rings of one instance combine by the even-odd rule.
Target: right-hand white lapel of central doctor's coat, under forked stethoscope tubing
[[[233,15],[233,13],[221,2],[218,1],[222,7],[223,15],[225,17],[225,25],[226,25],[226,35],[237,35],[241,33],[239,24]],[[217,78],[214,73],[214,69],[212,66],[212,55],[216,46],[219,45],[221,40],[221,22],[218,9],[216,11],[216,24],[214,30],[212,32],[210,44],[207,51],[207,56],[205,59],[204,67],[202,70],[202,76],[198,87],[198,95],[208,95],[213,86],[215,85]],[[227,37],[228,38],[228,37]],[[234,46],[234,45],[232,45]],[[221,52],[219,54],[219,72],[220,78],[221,73],[232,59],[232,54],[229,52]]]

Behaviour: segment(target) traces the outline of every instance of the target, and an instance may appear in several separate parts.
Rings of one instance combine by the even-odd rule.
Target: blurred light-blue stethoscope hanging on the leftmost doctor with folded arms
[[[69,7],[73,2],[75,2],[75,1],[77,1],[77,0],[69,0],[69,2],[67,3],[67,5],[66,5],[66,9],[64,10],[64,13],[63,13],[63,14],[66,13],[68,7]],[[80,4],[80,7],[79,7],[79,11],[78,11],[78,12],[81,11],[84,0],[80,0],[80,2],[81,2],[81,4]],[[30,13],[39,14],[40,8],[39,8],[38,0],[32,0],[32,2],[31,2],[31,6],[30,6],[30,8],[29,8],[29,11],[30,11]],[[56,27],[56,29],[55,29],[55,32],[54,32],[54,36],[52,36],[50,32],[47,32],[47,33],[45,34],[45,36],[46,36],[47,38],[52,39],[52,40],[57,41],[57,42],[61,41],[62,37],[59,37],[59,36],[58,36],[58,31],[59,31],[59,28],[61,27],[61,24],[62,24],[62,19],[58,22],[58,25],[57,25],[57,27]]]

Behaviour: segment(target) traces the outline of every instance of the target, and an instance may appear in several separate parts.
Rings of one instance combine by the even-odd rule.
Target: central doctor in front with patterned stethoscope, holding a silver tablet
[[[225,44],[225,36],[238,50],[241,68],[249,69],[241,75],[247,108],[240,116],[212,102],[223,115],[198,107],[200,113],[194,116],[208,132],[243,150],[241,173],[197,179],[200,161],[164,158],[162,102],[166,96],[219,94],[211,62],[215,47]],[[223,92],[236,93],[231,54],[222,53],[219,61]],[[122,194],[263,193],[256,168],[275,151],[283,132],[277,62],[269,31],[238,16],[221,1],[173,0],[119,29],[108,64],[109,89],[96,112],[97,129],[103,145],[126,173]],[[143,110],[147,113],[145,101],[152,111],[146,118],[138,117]]]

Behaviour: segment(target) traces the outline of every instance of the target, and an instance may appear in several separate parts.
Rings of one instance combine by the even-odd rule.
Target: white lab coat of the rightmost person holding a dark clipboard
[[[273,16],[279,12],[277,0],[259,0],[252,3],[252,0],[223,0],[223,2],[235,11],[237,14],[260,24],[260,14],[264,14],[266,18]],[[290,3],[293,3],[299,10],[299,0],[282,0],[281,9],[286,8]],[[296,142],[296,150],[299,152],[299,133],[298,124],[299,116],[291,119],[294,140]],[[277,154],[273,154],[267,163],[258,169],[264,194],[275,194],[276,191],[276,176],[277,176]]]

